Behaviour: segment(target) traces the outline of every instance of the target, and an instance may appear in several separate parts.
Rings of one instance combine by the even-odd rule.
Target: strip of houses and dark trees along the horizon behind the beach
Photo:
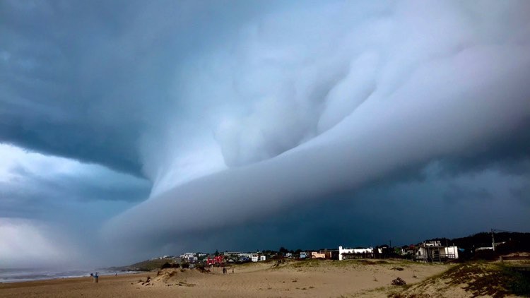
[[[497,232],[497,234],[495,234]],[[491,242],[489,237],[491,236]],[[495,238],[497,237],[497,242]],[[457,243],[460,248],[450,242]],[[376,247],[348,248],[338,246],[338,249],[320,249],[317,251],[289,251],[281,247],[279,251],[240,252],[225,251],[215,254],[185,253],[180,256],[161,256],[168,259],[167,263],[179,263],[181,266],[226,266],[230,263],[261,262],[268,260],[283,261],[285,258],[293,259],[328,259],[343,261],[358,258],[406,258],[423,262],[447,262],[468,258],[491,258],[497,254],[510,254],[514,249],[525,251],[530,243],[530,233],[499,232],[492,230],[491,234],[481,232],[469,237],[449,239],[436,239],[401,247],[382,245]],[[522,249],[522,250],[521,250]],[[186,264],[187,263],[187,264]],[[184,268],[184,267],[183,267]]]

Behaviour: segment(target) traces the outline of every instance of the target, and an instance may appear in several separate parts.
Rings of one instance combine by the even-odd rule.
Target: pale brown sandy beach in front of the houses
[[[409,261],[248,263],[223,274],[199,270],[0,284],[0,297],[387,297],[402,278],[418,283],[451,266]],[[146,282],[150,277],[150,281]]]

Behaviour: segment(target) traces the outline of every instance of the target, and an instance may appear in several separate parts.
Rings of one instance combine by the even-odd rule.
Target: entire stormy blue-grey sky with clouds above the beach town
[[[0,268],[530,232],[530,2],[0,1]]]

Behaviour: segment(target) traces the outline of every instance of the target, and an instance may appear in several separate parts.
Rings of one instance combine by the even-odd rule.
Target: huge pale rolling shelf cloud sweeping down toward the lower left
[[[205,150],[220,148],[229,169],[217,157],[215,174],[158,184],[104,234],[126,242],[238,225],[514,142],[529,128],[529,8],[332,3],[248,23],[188,66],[179,90],[189,117],[210,124],[196,130],[213,134]]]

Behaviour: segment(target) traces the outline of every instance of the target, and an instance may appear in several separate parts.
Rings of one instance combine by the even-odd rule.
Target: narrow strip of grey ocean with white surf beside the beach
[[[98,275],[118,275],[137,273],[138,271],[114,270],[49,270],[49,269],[0,269],[0,282],[25,282],[30,280],[56,280],[59,278],[90,277]]]

